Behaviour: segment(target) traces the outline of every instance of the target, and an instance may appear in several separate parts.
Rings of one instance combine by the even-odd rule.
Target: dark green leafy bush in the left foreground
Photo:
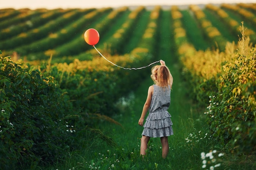
[[[52,162],[71,143],[72,105],[52,77],[0,55],[0,168]]]

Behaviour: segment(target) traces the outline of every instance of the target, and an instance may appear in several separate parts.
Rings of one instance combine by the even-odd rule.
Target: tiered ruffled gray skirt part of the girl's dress
[[[173,135],[173,122],[168,111],[149,113],[144,124],[142,135],[148,137],[163,137]]]

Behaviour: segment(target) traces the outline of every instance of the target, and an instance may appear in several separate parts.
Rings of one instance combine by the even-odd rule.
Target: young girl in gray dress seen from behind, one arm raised
[[[142,132],[140,154],[146,155],[150,137],[160,137],[162,157],[166,158],[169,151],[168,136],[173,135],[173,123],[167,111],[171,102],[173,76],[165,62],[160,60],[160,63],[161,65],[156,65],[151,70],[151,78],[155,84],[148,88],[148,96],[139,119],[139,125],[143,126],[144,118],[149,111]]]

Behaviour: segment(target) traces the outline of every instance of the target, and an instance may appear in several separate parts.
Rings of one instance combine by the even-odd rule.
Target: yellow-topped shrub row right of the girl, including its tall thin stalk
[[[186,53],[181,61],[196,101],[205,104],[210,96],[205,113],[213,139],[232,152],[252,154],[256,150],[256,49],[243,27],[241,33],[238,45],[227,44],[225,52]]]

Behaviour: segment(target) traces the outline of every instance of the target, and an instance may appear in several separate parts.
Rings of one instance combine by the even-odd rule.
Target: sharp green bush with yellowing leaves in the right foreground
[[[252,154],[256,150],[256,49],[226,63],[218,79],[218,93],[211,96],[210,131],[227,149]]]

